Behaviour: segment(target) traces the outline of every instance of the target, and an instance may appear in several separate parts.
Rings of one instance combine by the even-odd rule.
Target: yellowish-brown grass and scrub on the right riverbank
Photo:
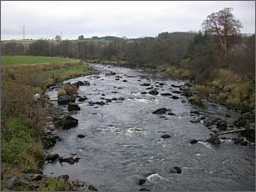
[[[159,67],[173,79],[189,79],[191,71],[186,67]],[[255,84],[244,76],[229,69],[212,70],[211,80],[188,80],[197,83],[195,86],[194,102],[201,104],[203,99],[209,102],[221,103],[228,108],[242,111],[253,111],[255,114]]]

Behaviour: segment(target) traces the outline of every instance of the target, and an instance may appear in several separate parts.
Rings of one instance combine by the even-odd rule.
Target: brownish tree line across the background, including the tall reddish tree
[[[212,70],[232,69],[255,81],[255,34],[241,35],[241,22],[224,8],[207,16],[199,32],[161,32],[157,37],[104,41],[39,39],[27,46],[1,44],[2,55],[61,56],[82,60],[125,61],[129,67],[183,67],[186,78],[211,80]]]

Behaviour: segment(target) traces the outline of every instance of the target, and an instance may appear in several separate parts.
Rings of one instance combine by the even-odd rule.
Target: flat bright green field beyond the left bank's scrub
[[[75,62],[77,60],[54,58],[54,57],[38,57],[38,56],[1,56],[1,66],[16,66],[23,64],[38,64],[47,62]]]

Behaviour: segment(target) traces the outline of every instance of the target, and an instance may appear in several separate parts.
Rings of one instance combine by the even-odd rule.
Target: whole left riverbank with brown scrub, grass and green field
[[[35,172],[38,160],[44,159],[40,142],[48,115],[44,90],[50,84],[91,73],[92,69],[79,60],[45,57],[1,57],[1,64],[3,189],[8,174],[15,173],[12,170],[18,167],[22,172]],[[35,101],[36,93],[42,96],[41,101]]]

